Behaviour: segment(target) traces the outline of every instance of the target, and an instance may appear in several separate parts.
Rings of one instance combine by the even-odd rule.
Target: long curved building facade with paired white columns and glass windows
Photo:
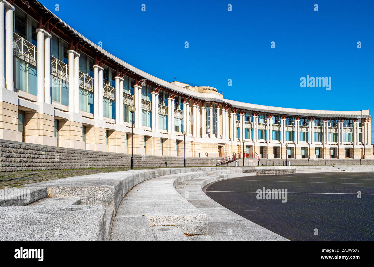
[[[186,147],[192,157],[244,150],[267,159],[373,159],[368,110],[269,107],[165,82],[34,0],[0,0],[0,105],[0,139],[12,141],[118,153],[133,143],[135,154],[165,156]]]

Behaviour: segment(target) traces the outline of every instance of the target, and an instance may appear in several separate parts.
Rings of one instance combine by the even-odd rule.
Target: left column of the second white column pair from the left
[[[37,61],[36,65],[38,68],[37,71],[37,81],[38,81],[38,93],[37,93],[37,100],[38,102],[44,102],[44,30],[37,29]],[[8,52],[8,51],[6,51]],[[13,54],[13,53],[12,53]],[[74,61],[74,56],[73,56]],[[71,67],[74,70],[74,67]],[[69,110],[70,110],[70,101],[74,101],[74,96],[70,96],[70,74],[71,77],[74,77],[74,74],[70,72],[70,54],[69,54]],[[8,82],[8,75],[6,77]],[[73,81],[72,81],[73,83]],[[8,85],[8,84],[7,84]],[[8,86],[7,86],[8,88]],[[71,98],[71,99],[70,99]],[[71,107],[73,110],[74,106]]]

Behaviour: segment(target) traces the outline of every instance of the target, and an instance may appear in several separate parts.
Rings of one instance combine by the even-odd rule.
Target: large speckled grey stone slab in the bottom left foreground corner
[[[0,240],[105,241],[103,205],[0,207]]]

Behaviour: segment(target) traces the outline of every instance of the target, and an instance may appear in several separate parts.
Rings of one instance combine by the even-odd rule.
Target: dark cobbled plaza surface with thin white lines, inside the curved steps
[[[257,193],[237,192],[256,192],[263,187],[287,189],[287,202],[258,200]],[[206,194],[290,240],[374,241],[373,172],[240,177],[215,182],[208,186]]]

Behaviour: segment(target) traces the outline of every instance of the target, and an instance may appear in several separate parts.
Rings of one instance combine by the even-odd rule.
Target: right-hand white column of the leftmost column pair
[[[6,4],[5,6],[5,78],[6,78],[6,82],[5,83],[6,83],[6,88],[8,90],[13,91],[14,90],[14,82],[13,82],[13,11],[14,11],[14,7],[10,5],[9,3],[5,3],[5,4]],[[44,39],[43,39],[43,42],[44,42]],[[38,50],[39,50],[39,47],[38,47]],[[39,80],[38,80],[38,90],[39,90]]]

